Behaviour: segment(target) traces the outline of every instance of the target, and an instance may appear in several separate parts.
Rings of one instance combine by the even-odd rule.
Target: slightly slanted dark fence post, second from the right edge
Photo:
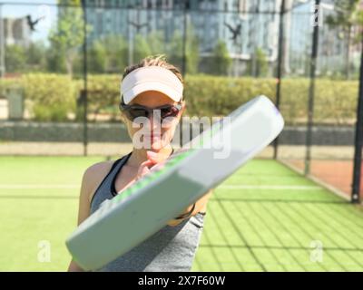
[[[309,86],[309,101],[308,101],[308,124],[306,135],[306,157],[305,157],[305,175],[310,173],[310,160],[311,160],[311,139],[312,139],[312,126],[314,117],[314,98],[315,98],[315,76],[317,69],[318,59],[318,45],[319,45],[319,22],[320,22],[320,0],[315,0],[314,14],[312,25],[314,32],[312,34],[312,51],[310,63],[310,86]]]

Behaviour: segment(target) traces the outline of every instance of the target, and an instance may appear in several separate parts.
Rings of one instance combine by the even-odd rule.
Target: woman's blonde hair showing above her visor
[[[124,70],[123,70],[123,79],[125,78],[125,76],[129,73],[131,73],[132,71],[140,68],[140,67],[144,67],[144,66],[161,66],[165,69],[170,70],[172,73],[174,73],[178,79],[182,82],[182,84],[184,84],[184,81],[182,79],[182,73],[179,70],[178,67],[172,65],[172,63],[168,63],[166,61],[166,55],[165,54],[155,54],[155,55],[150,55],[147,56],[145,58],[143,58],[140,63],[136,63],[136,64],[132,64],[127,66]]]

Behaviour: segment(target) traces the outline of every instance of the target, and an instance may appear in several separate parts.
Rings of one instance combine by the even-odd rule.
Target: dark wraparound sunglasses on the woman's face
[[[125,103],[120,103],[120,110],[124,112],[127,119],[134,121],[138,117],[150,118],[153,111],[160,111],[160,118],[164,120],[165,118],[171,117],[175,118],[178,116],[179,112],[182,110],[182,103],[178,102],[174,105],[167,104],[155,108],[149,108],[142,105],[126,105]]]

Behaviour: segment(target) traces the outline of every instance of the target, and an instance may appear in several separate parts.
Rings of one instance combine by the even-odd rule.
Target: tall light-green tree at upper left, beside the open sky
[[[74,60],[83,43],[83,10],[81,0],[58,0],[58,4],[62,6],[59,6],[58,21],[49,40],[64,55],[66,71],[72,77]]]

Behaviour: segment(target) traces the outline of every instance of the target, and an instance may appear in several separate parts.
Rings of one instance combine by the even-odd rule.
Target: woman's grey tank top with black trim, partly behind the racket
[[[112,199],[117,195],[115,179],[131,154],[132,152],[113,162],[112,169],[94,192],[91,214],[105,199]],[[200,212],[191,218],[184,219],[175,227],[169,225],[162,227],[152,237],[98,271],[190,271],[200,242],[204,216],[205,213]]]

